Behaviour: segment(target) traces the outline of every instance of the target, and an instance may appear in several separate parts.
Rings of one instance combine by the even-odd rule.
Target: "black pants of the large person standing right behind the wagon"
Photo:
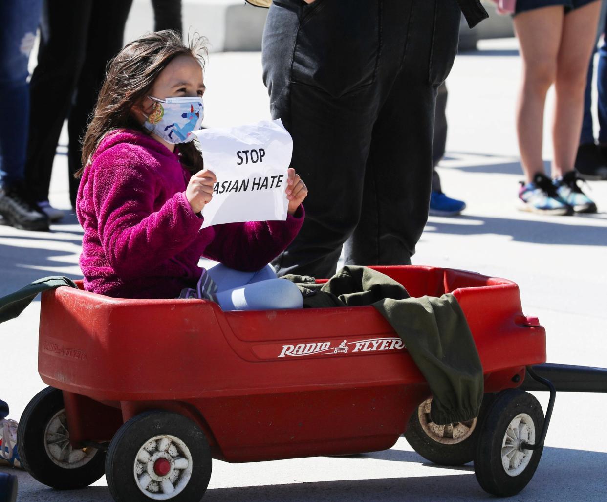
[[[410,263],[460,17],[457,0],[274,0],[263,78],[309,190],[304,226],[274,262],[280,275],[330,277],[342,245],[347,265]]]

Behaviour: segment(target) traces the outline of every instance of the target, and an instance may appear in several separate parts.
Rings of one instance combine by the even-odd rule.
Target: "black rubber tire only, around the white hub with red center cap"
[[[124,422],[112,439],[106,456],[106,480],[116,502],[149,502],[134,475],[135,460],[141,447],[151,438],[171,435],[180,439],[192,455],[188,483],[172,502],[194,502],[205,494],[211,479],[211,450],[200,427],[179,413],[151,410]]]

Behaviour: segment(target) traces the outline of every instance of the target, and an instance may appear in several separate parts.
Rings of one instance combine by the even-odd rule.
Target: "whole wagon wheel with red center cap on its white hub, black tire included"
[[[106,457],[106,480],[117,502],[192,502],[211,478],[211,450],[190,419],[173,412],[144,412],[114,435]]]

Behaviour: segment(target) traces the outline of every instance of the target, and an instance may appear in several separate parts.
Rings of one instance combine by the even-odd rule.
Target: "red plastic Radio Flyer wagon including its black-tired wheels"
[[[407,429],[429,460],[473,460],[485,490],[517,493],[537,467],[545,427],[537,400],[516,387],[546,360],[544,328],[522,313],[517,285],[375,268],[411,296],[459,300],[483,364],[477,419],[432,423],[427,382],[373,307],[224,312],[206,300],[61,287],[42,295],[38,371],[50,387],[21,418],[22,463],[59,489],[105,473],[117,501],[194,501],[212,458],[371,452]]]

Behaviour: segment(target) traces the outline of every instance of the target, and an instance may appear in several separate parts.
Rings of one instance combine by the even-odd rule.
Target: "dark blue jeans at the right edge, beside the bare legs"
[[[599,33],[607,27],[607,1],[603,0],[601,18],[599,19]],[[586,91],[584,94],[584,119],[582,121],[582,134],[580,144],[594,143],[594,129],[592,127],[592,72],[594,71],[594,55],[597,52],[596,44],[588,65],[586,77]],[[597,90],[599,98],[597,113],[599,115],[599,143],[607,143],[607,42],[599,49],[599,64],[597,66]]]

